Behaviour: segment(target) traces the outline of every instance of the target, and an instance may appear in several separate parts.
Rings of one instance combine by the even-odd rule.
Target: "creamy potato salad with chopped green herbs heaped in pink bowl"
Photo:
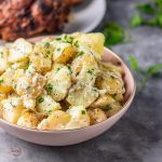
[[[0,49],[0,116],[19,126],[73,130],[122,109],[120,65],[102,62],[102,33],[71,33]]]

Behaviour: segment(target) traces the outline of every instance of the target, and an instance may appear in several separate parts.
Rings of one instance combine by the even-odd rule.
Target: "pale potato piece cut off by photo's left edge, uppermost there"
[[[8,55],[9,55],[8,49],[1,46],[0,48],[0,75],[4,72],[9,67]]]

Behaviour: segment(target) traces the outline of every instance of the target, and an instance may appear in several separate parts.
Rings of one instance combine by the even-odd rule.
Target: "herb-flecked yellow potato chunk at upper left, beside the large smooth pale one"
[[[49,41],[37,43],[30,55],[30,62],[38,72],[45,73],[52,68],[54,48]]]

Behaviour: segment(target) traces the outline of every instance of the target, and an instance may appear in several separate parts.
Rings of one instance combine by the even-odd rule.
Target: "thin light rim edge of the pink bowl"
[[[133,102],[133,98],[134,98],[135,93],[136,93],[135,79],[134,79],[130,68],[126,66],[126,64],[124,63],[124,60],[120,56],[118,56],[114,52],[112,52],[108,48],[104,48],[104,51],[106,51],[108,53],[111,53],[118,60],[120,60],[129,69],[129,72],[130,72],[130,75],[132,77],[132,80],[133,80],[133,91],[130,94],[130,97],[127,98],[127,100],[122,106],[122,109],[119,110],[116,114],[113,114],[112,117],[109,117],[105,121],[96,123],[94,125],[89,125],[89,126],[85,126],[85,127],[73,129],[73,130],[37,130],[37,129],[29,129],[29,127],[25,127],[25,126],[21,126],[21,125],[17,125],[17,124],[10,123],[9,121],[3,120],[2,118],[0,118],[0,123],[6,124],[9,126],[12,126],[12,127],[15,127],[15,129],[18,129],[18,130],[32,132],[32,133],[43,133],[43,134],[46,134],[46,133],[54,133],[54,134],[62,133],[62,134],[64,134],[64,133],[71,133],[71,132],[83,131],[83,130],[87,130],[87,129],[93,129],[93,127],[99,126],[99,125],[110,121],[111,119],[116,118],[122,110],[124,110],[124,109],[127,110],[129,109],[127,106]]]

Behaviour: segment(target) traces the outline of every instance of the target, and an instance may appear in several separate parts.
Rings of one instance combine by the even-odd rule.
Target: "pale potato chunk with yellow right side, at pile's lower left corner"
[[[3,107],[3,119],[11,123],[16,123],[22,114],[22,111],[24,110],[21,98],[13,95],[8,99],[2,100],[1,104]]]

